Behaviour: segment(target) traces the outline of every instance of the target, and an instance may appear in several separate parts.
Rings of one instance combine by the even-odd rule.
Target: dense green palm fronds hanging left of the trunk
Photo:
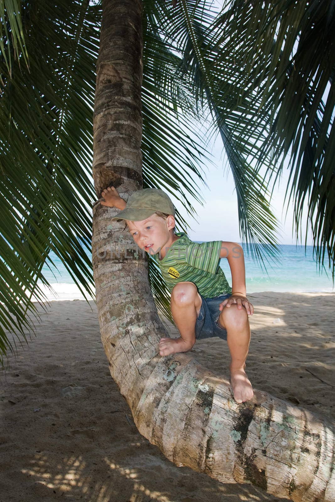
[[[88,4],[25,4],[22,40],[29,68],[8,40],[11,59],[3,54],[0,60],[2,354],[5,346],[13,348],[4,328],[26,339],[29,313],[39,317],[31,298],[46,300],[40,282],[50,286],[42,273],[44,263],[52,265],[50,250],[85,298],[93,295],[87,250],[95,198],[92,107],[101,13]],[[12,36],[11,16],[4,21]]]

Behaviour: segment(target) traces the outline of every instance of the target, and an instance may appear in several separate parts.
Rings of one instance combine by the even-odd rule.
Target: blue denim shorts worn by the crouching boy
[[[202,295],[200,296],[202,303],[195,323],[195,338],[200,340],[201,338],[218,336],[219,338],[227,340],[227,330],[220,328],[217,323],[217,319],[222,312],[218,307],[220,303],[231,295],[225,293],[223,295],[214,296],[213,298],[204,298]]]

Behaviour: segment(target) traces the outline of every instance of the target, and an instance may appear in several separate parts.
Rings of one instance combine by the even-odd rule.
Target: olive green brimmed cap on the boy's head
[[[143,188],[133,192],[127,202],[127,207],[111,219],[127,219],[142,221],[156,211],[175,215],[175,208],[170,197],[159,188]]]

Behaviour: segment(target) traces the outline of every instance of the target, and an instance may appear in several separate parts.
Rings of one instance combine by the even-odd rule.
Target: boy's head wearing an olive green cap
[[[175,208],[169,196],[157,188],[134,192],[127,207],[113,219],[123,219],[135,242],[146,251],[163,247],[175,235]],[[149,241],[153,242],[149,242]],[[154,246],[146,247],[146,244]],[[153,250],[153,249],[152,249]]]

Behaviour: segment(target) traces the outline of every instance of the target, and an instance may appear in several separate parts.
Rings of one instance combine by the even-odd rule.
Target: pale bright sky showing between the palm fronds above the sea
[[[215,165],[212,166],[208,163],[207,169],[204,169],[206,173],[205,181],[208,185],[208,188],[202,184],[200,185],[200,194],[205,200],[204,205],[192,201],[192,205],[197,212],[197,221],[187,214],[181,202],[171,196],[172,202],[189,223],[188,236],[191,240],[221,239],[241,242],[234,179],[229,165],[226,167],[227,156],[222,149],[220,137],[212,141],[211,148],[208,146],[208,150],[212,153],[211,160]],[[284,205],[284,198],[288,174],[288,170],[284,169],[281,182],[274,191],[272,198],[272,211],[280,222],[279,244],[296,244],[295,234],[292,237],[292,203],[285,221],[287,203]],[[312,238],[309,232],[307,245],[311,244]]]

